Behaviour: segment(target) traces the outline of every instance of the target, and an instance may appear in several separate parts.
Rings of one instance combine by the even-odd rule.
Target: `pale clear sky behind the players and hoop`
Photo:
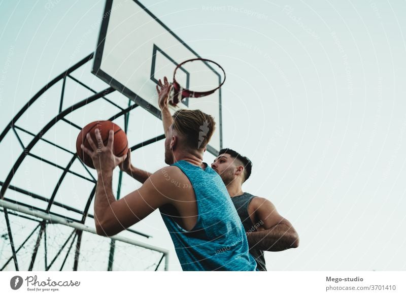
[[[266,253],[268,270],[404,270],[406,3],[142,3],[227,73],[223,146],[252,160],[243,189],[272,201],[300,236],[299,248]],[[95,49],[103,10],[104,1],[0,1],[1,129],[47,82]],[[104,85],[86,75],[94,87]],[[38,132],[55,116],[58,93],[21,124]],[[159,129],[149,113],[138,112],[130,144]],[[16,147],[0,145],[1,180],[21,153]],[[159,169],[163,142],[133,158],[143,169]],[[34,165],[29,172],[21,173],[26,187],[53,188],[51,173]],[[81,186],[71,184],[78,199],[89,192]],[[137,186],[126,178],[122,191]],[[158,213],[134,229],[173,250]],[[172,251],[172,270],[179,269],[175,257]]]

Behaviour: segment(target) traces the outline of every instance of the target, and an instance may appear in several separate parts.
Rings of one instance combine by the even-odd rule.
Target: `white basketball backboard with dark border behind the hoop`
[[[200,56],[140,2],[106,1],[92,73],[153,115],[160,118],[155,89],[158,79],[166,76],[172,81],[176,66],[196,57]],[[177,81],[186,88],[218,85],[220,74],[209,70],[197,76],[180,68]],[[171,113],[179,109],[200,109],[215,118],[215,134],[207,149],[217,156],[222,148],[221,89],[205,97],[186,98],[177,107],[171,106]]]

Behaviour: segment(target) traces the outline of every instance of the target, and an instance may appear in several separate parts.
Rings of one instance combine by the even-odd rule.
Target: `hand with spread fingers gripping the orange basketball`
[[[97,139],[97,146],[93,142],[93,139],[90,137],[90,134],[86,135],[87,141],[91,149],[86,148],[81,144],[81,148],[85,153],[87,153],[93,161],[93,166],[97,172],[108,172],[113,171],[121,162],[127,158],[127,154],[121,157],[114,155],[113,153],[113,142],[114,142],[114,131],[109,131],[109,140],[107,145],[103,144],[103,139],[101,139],[100,130],[96,128],[94,134]]]

